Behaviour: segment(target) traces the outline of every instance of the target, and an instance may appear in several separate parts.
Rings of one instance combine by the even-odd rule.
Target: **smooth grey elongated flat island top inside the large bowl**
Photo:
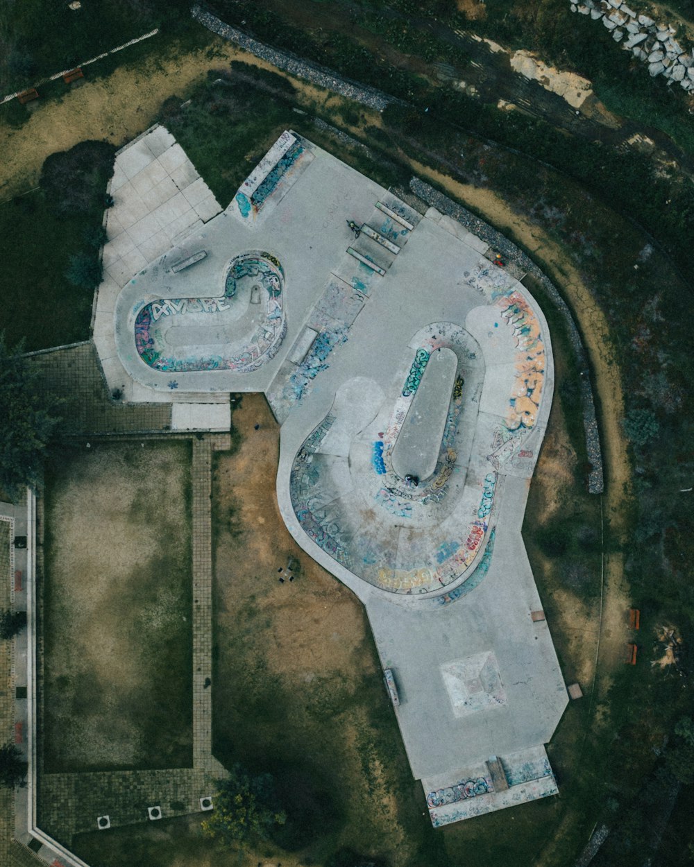
[[[448,347],[435,349],[429,355],[422,381],[393,447],[393,469],[401,479],[408,474],[417,479],[429,479],[434,473],[457,368],[458,356]]]

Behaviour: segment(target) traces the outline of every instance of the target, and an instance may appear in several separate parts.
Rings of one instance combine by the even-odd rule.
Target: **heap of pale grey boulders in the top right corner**
[[[684,48],[670,24],[657,24],[647,15],[639,15],[623,0],[584,0],[572,3],[572,12],[589,15],[612,32],[612,39],[648,65],[652,76],[663,75],[668,84],[694,93],[694,49]]]

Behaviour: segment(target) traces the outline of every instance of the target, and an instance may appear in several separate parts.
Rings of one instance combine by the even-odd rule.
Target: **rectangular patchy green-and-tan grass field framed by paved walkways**
[[[192,760],[190,447],[62,447],[46,473],[47,772]]]

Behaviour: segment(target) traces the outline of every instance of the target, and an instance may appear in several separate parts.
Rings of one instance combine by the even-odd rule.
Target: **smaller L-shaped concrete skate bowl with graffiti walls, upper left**
[[[265,251],[247,251],[226,267],[224,295],[160,298],[134,323],[143,362],[161,371],[248,373],[270,361],[286,334],[285,273]]]

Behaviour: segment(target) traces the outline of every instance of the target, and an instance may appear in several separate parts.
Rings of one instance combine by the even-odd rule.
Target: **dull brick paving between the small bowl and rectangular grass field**
[[[27,356],[43,376],[47,394],[62,399],[61,432],[145,433],[171,427],[171,404],[121,404],[111,400],[91,341]]]

